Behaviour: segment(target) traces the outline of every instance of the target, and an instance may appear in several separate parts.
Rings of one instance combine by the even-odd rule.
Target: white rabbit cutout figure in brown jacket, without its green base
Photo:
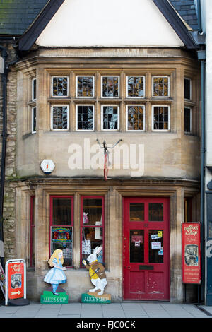
[[[107,285],[107,279],[105,275],[105,267],[98,262],[97,255],[102,250],[102,247],[96,247],[93,251],[93,254],[90,254],[88,256],[87,261],[89,265],[86,263],[85,260],[83,260],[84,266],[86,266],[86,269],[89,271],[90,275],[90,281],[95,285],[95,288],[92,290],[89,290],[89,292],[95,292],[97,290],[100,290],[98,292],[98,295],[102,295],[104,293],[105,287]]]

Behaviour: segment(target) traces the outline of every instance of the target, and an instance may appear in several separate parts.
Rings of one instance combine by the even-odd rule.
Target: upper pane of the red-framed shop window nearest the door
[[[83,199],[83,224],[102,225],[102,198]]]

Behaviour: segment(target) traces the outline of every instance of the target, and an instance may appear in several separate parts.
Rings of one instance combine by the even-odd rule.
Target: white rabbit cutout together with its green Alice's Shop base
[[[96,247],[93,254],[90,254],[87,258],[89,265],[83,260],[84,266],[89,272],[90,281],[95,286],[90,289],[86,294],[82,294],[82,302],[86,303],[110,303],[111,295],[104,294],[105,287],[107,285],[107,278],[105,275],[105,267],[102,263],[98,262],[97,255],[102,251],[102,247]]]

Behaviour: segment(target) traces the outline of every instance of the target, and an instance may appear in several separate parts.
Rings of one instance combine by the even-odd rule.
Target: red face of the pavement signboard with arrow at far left
[[[18,299],[24,296],[24,263],[8,263],[8,298]]]

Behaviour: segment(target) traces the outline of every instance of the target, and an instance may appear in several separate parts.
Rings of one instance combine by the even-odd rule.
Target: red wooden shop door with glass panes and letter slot
[[[124,198],[124,300],[170,300],[169,198]]]

